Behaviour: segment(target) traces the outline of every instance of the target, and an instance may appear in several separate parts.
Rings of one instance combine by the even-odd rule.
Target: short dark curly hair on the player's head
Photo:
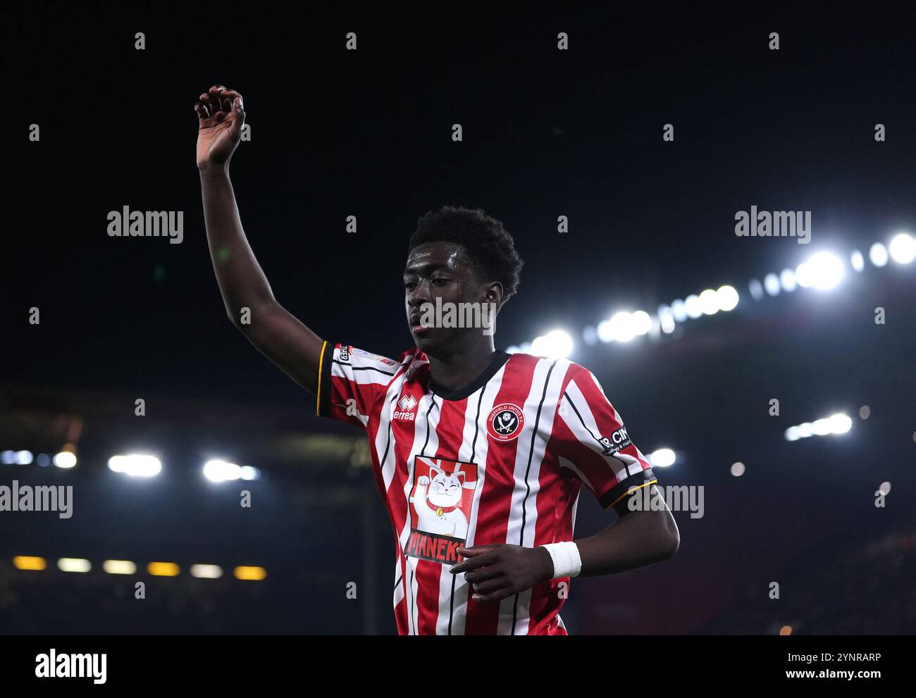
[[[435,242],[462,245],[471,257],[477,278],[503,285],[502,304],[518,291],[524,261],[506,227],[483,209],[446,205],[421,215],[416,232],[410,235],[408,254],[418,245]]]

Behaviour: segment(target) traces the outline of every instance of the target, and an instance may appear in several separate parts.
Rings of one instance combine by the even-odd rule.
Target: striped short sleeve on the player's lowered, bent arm
[[[561,467],[575,474],[602,507],[627,513],[627,496],[657,482],[649,460],[594,374],[573,364],[557,410],[554,438]]]

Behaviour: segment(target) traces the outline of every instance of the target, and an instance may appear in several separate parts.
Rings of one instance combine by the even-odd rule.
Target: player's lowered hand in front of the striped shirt
[[[459,548],[467,558],[451,569],[466,573],[474,601],[502,601],[553,577],[553,559],[546,548],[520,545],[474,545]]]

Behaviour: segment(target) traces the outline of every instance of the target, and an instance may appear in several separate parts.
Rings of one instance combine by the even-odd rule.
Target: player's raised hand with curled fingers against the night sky
[[[197,167],[228,165],[245,124],[242,95],[213,85],[194,104],[194,111],[198,117]]]

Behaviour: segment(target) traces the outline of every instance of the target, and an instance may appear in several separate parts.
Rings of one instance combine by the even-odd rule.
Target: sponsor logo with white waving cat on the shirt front
[[[410,489],[409,557],[453,565],[462,562],[458,549],[467,540],[477,466],[418,455]]]

